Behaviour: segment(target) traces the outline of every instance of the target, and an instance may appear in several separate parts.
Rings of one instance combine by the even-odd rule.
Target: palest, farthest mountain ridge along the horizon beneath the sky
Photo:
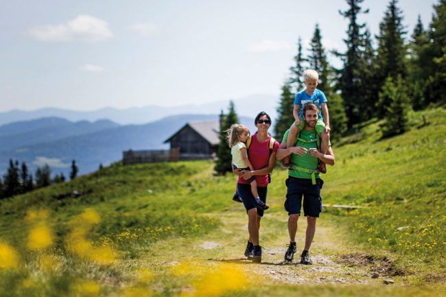
[[[268,112],[272,119],[276,119],[276,108],[279,105],[279,97],[276,95],[251,95],[233,100],[235,110],[240,116],[255,117],[261,110]],[[109,119],[122,125],[150,123],[169,117],[171,115],[195,114],[195,115],[215,115],[220,110],[226,111],[229,100],[220,100],[206,104],[189,104],[172,107],[143,106],[141,108],[101,108],[92,111],[63,110],[60,108],[42,108],[39,110],[23,111],[10,110],[0,112],[0,125],[15,121],[27,121],[30,119],[40,119],[43,117],[59,117],[69,121],[97,121],[99,119]]]

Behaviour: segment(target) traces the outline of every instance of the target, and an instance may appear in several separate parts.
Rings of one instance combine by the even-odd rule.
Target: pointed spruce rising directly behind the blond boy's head
[[[327,54],[325,54],[325,49],[322,45],[322,36],[320,35],[320,29],[317,23],[314,27],[314,34],[312,42],[310,43],[307,60],[309,68],[316,70],[319,74],[318,88],[324,93],[330,93],[329,76],[331,69],[328,64]]]

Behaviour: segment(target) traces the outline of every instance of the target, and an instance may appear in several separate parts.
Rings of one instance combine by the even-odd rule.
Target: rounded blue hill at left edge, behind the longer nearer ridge
[[[47,143],[71,136],[90,134],[120,126],[109,120],[71,122],[66,119],[49,117],[20,121],[0,126],[0,152],[26,145]]]

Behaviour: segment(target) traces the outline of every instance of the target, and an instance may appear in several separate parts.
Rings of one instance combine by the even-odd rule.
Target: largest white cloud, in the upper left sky
[[[108,23],[94,16],[80,14],[67,23],[58,25],[41,25],[30,29],[30,34],[37,40],[45,42],[101,41],[111,38],[113,33]]]

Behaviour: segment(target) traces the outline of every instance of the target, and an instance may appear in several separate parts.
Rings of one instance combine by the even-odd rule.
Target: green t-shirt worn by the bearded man
[[[287,139],[288,133],[290,130],[287,130],[285,134],[283,135],[283,139]],[[298,135],[298,139],[303,139],[305,141],[311,141],[313,139],[316,139],[318,137],[318,134],[316,134],[316,130],[309,131],[303,129],[301,133]],[[307,150],[310,148],[318,148],[318,144],[316,141],[310,142],[310,143],[304,143],[303,141],[297,140],[295,146],[301,146],[305,147]],[[297,165],[298,167],[303,167],[305,169],[318,169],[319,159],[312,156],[307,152],[305,156],[299,156],[298,154],[291,154],[291,162]],[[308,178],[311,179],[312,175],[299,171],[299,170],[288,170],[288,175],[293,176],[294,178]],[[320,174],[316,174],[316,178],[320,178]]]

